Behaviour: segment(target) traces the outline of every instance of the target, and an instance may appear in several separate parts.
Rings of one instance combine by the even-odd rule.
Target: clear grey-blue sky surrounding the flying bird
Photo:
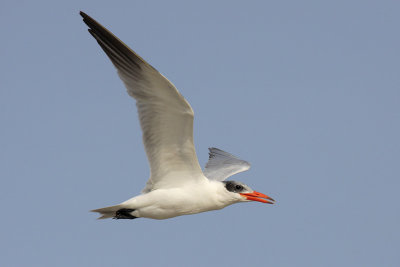
[[[83,10],[167,76],[233,179],[277,200],[164,221],[90,209],[149,175]],[[1,266],[400,266],[399,1],[0,4]]]

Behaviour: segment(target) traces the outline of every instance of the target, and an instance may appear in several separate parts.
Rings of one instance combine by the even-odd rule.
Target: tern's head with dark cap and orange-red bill
[[[275,200],[267,195],[256,192],[244,183],[237,181],[224,181],[225,189],[237,202],[258,201],[274,204]]]

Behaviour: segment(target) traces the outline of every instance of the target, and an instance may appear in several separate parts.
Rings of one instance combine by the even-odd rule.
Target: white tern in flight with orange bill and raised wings
[[[141,194],[118,205],[95,209],[98,219],[163,220],[219,210],[249,201],[274,204],[271,197],[242,182],[226,180],[250,164],[221,149],[209,148],[201,169],[193,142],[193,109],[176,87],[96,20],[83,22],[106,53],[136,100],[150,178]]]

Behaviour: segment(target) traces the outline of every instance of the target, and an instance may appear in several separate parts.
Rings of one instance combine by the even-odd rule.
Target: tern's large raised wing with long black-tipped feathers
[[[175,86],[110,31],[83,12],[89,32],[136,99],[150,179],[143,192],[203,177],[193,145],[193,110]],[[204,179],[204,178],[203,178]]]

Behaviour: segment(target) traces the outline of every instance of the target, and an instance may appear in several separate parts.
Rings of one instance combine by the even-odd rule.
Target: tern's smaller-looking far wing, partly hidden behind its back
[[[250,169],[250,163],[235,157],[221,149],[211,147],[204,175],[212,180],[224,181],[228,177]]]

